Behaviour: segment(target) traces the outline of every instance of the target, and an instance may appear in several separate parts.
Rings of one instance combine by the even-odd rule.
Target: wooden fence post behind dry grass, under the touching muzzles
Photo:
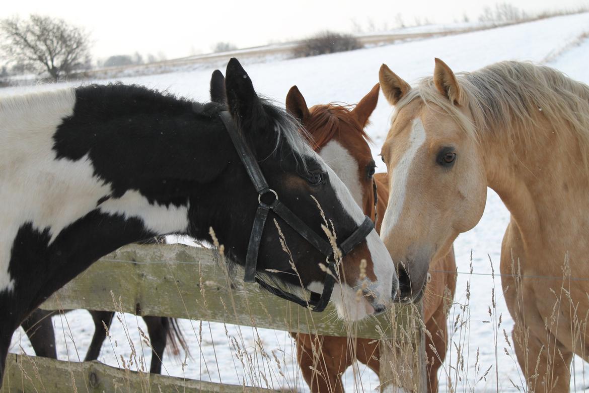
[[[379,344],[380,391],[425,393],[428,379],[422,302],[396,305],[391,321],[396,327],[386,332],[387,338]]]

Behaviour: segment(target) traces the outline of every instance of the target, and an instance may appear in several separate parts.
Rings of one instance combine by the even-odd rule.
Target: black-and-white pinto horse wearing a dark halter
[[[316,309],[332,298],[350,320],[396,296],[378,233],[296,123],[236,59],[226,82],[229,111],[122,84],[0,100],[0,375],[29,313],[102,255],[152,236],[207,241],[213,227],[247,280]],[[317,204],[348,251],[341,263]],[[345,303],[359,286],[360,302]]]

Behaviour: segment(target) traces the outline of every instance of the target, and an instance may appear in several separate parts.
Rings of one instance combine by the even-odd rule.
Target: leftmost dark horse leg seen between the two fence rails
[[[55,332],[51,321],[53,314],[53,311],[44,311],[38,308],[22,321],[21,326],[27,333],[37,356],[57,359]]]

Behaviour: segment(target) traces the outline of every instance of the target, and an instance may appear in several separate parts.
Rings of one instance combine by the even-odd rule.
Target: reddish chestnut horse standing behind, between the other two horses
[[[286,110],[305,126],[309,142],[325,163],[348,186],[356,203],[375,220],[380,231],[389,199],[389,179],[386,173],[375,174],[375,162],[369,147],[370,138],[364,128],[378,102],[379,85],[352,109],[336,104],[314,105],[307,108],[305,98],[296,86],[286,97]],[[378,194],[378,197],[377,197]],[[428,391],[438,391],[438,369],[446,356],[446,316],[454,299],[456,287],[454,250],[432,262],[431,281],[423,298],[428,358]],[[443,271],[443,272],[442,272]],[[447,289],[446,289],[447,288]],[[341,375],[357,358],[379,373],[378,341],[346,337],[315,336],[292,333],[297,343],[297,357],[303,376],[313,392],[343,392]],[[315,340],[319,354],[313,356]],[[313,369],[318,372],[313,371]]]

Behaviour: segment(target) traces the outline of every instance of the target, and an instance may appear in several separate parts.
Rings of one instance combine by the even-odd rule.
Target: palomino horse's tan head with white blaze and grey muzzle
[[[398,265],[399,296],[418,299],[429,262],[479,221],[487,180],[466,97],[454,73],[436,59],[434,77],[418,88],[380,67],[380,86],[395,105],[382,160],[391,174],[381,237]]]

